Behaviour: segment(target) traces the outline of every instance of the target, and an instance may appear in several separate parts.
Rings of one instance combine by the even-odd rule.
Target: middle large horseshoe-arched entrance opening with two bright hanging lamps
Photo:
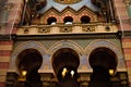
[[[52,67],[60,87],[79,87],[79,54],[70,48],[62,48],[52,55]]]

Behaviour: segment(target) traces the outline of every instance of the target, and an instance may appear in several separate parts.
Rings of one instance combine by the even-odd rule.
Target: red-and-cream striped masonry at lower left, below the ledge
[[[5,87],[5,75],[9,69],[12,45],[12,41],[0,41],[0,48],[2,48],[0,49],[0,87]]]

